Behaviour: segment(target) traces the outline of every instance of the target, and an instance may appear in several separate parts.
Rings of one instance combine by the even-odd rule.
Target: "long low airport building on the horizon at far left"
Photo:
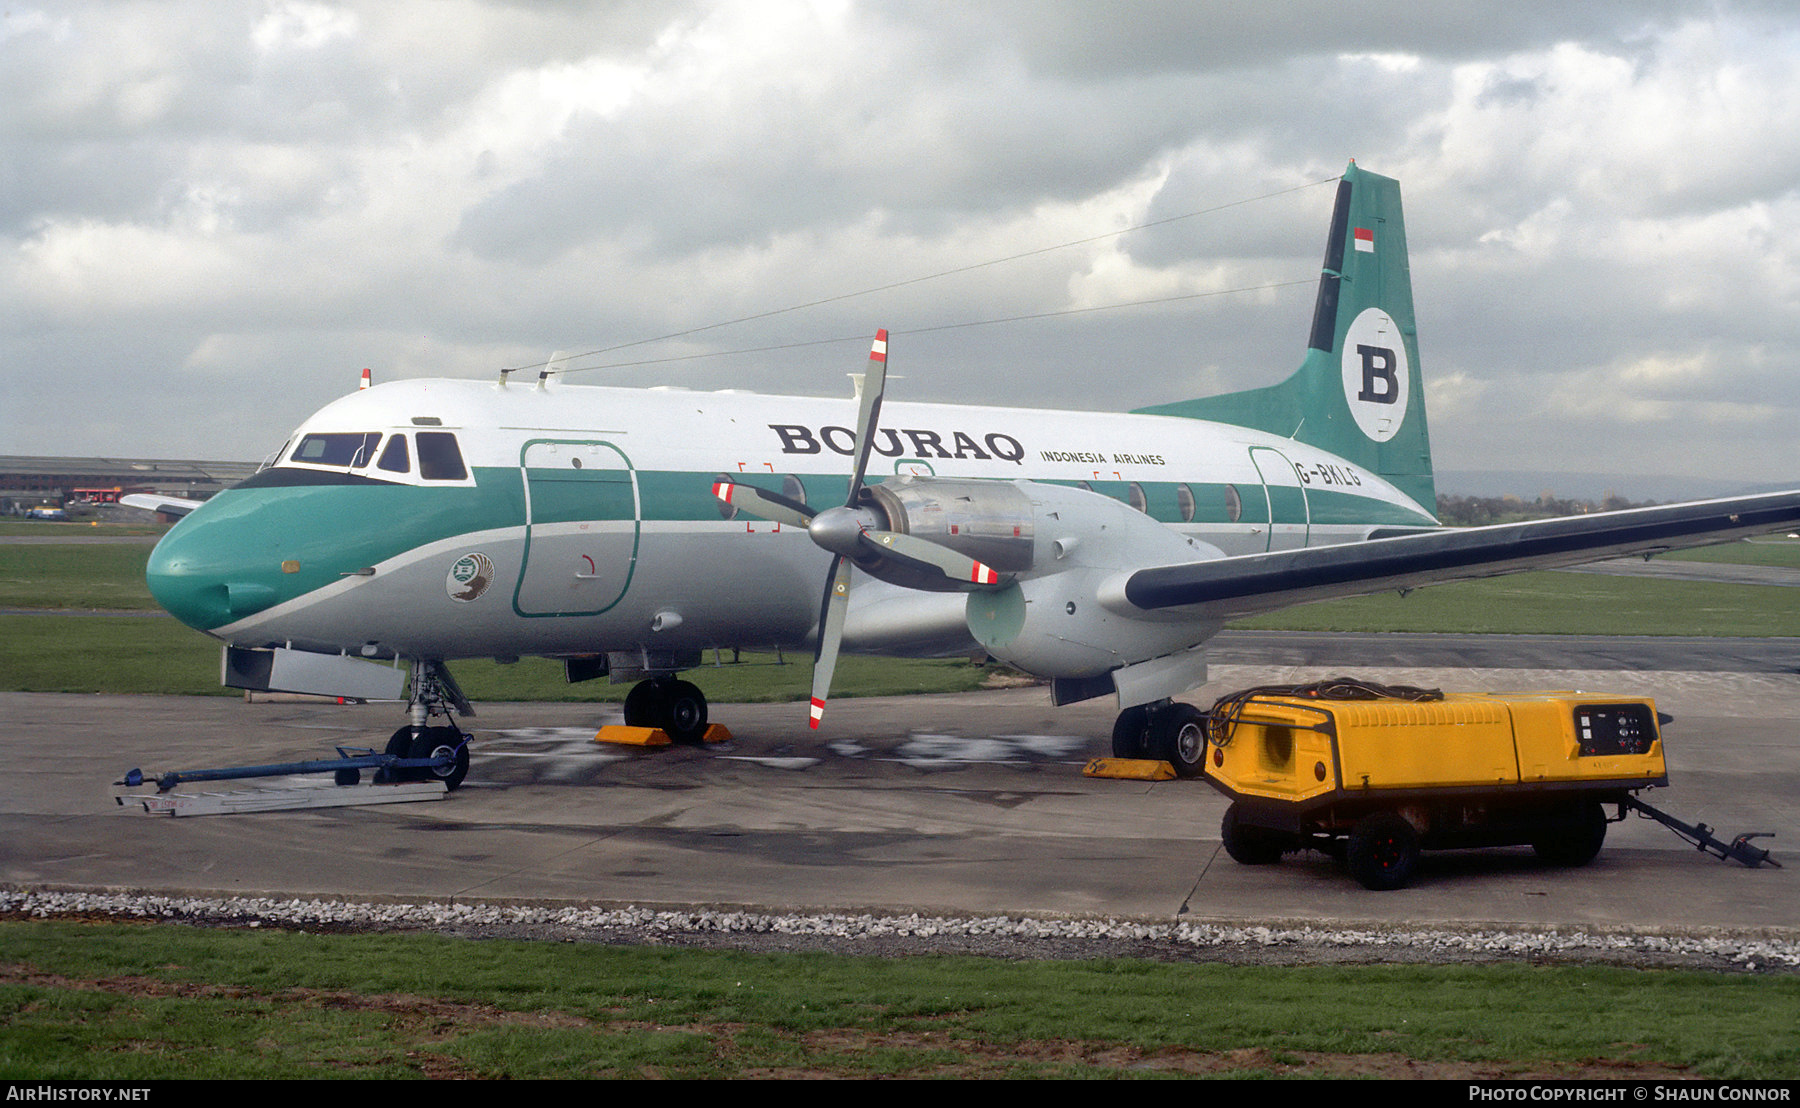
[[[115,504],[126,493],[205,500],[252,473],[256,462],[0,455],[0,514],[52,504]]]

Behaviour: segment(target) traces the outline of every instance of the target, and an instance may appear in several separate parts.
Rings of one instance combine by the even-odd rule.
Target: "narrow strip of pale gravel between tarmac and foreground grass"
[[[373,903],[275,898],[0,890],[9,919],[157,919],[193,926],[439,932],[538,939],[841,953],[1008,959],[1145,957],[1188,962],[1593,962],[1800,973],[1800,934],[1642,930],[1233,926],[1022,916],[778,914],[724,908]]]

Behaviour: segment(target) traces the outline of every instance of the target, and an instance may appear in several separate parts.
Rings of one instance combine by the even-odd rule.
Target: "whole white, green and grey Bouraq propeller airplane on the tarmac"
[[[454,752],[455,658],[637,682],[677,739],[718,649],[986,651],[1055,703],[1118,696],[1114,752],[1199,772],[1206,640],[1294,603],[1652,554],[1793,527],[1800,491],[1449,531],[1435,516],[1397,182],[1337,187],[1305,360],[1285,381],[1127,414],[414,380],[308,419],[191,507],[157,601],[236,687],[405,698],[391,754]],[[1114,367],[1094,367],[1096,389]],[[180,505],[176,505],[180,507]],[[821,601],[823,594],[823,601]],[[407,682],[410,675],[410,684]]]

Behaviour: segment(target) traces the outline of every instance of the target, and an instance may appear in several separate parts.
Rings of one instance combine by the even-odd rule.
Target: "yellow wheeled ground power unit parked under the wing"
[[[1357,698],[1314,685],[1213,705],[1206,779],[1231,797],[1220,831],[1233,860],[1318,849],[1368,889],[1406,885],[1427,849],[1530,844],[1586,865],[1636,790],[1669,784],[1667,718],[1645,698],[1337,694]]]

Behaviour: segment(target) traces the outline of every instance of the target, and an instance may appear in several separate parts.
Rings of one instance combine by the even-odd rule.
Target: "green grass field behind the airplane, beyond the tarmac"
[[[25,527],[25,525],[16,525]],[[45,525],[38,525],[45,527]],[[76,529],[79,531],[79,527]],[[41,534],[41,531],[34,532]],[[1800,541],[1708,547],[1694,559],[1800,568]],[[0,689],[25,692],[216,694],[218,644],[157,612],[144,586],[149,545],[0,545],[0,610],[58,610],[85,615],[0,612]],[[1654,581],[1597,574],[1516,574],[1382,594],[1276,612],[1233,626],[1305,631],[1458,631],[1589,635],[1782,635],[1800,637],[1800,595],[1759,585]],[[139,612],[144,615],[115,615]],[[727,655],[729,657],[729,655]],[[707,658],[711,660],[711,658]],[[792,658],[790,658],[792,660]],[[810,658],[776,666],[706,669],[716,701],[801,700]],[[846,657],[842,696],[956,692],[990,671],[967,662],[911,662]],[[475,700],[617,700],[625,685],[563,682],[562,666],[526,658],[455,664]]]

